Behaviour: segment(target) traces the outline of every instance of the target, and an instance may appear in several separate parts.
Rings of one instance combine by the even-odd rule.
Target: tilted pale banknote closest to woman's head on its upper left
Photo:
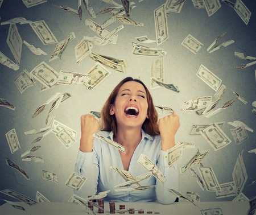
[[[84,83],[84,86],[88,89],[93,89],[100,85],[112,73],[106,67],[104,67],[104,65],[96,62],[96,64],[94,64],[86,74],[90,75],[90,81]]]

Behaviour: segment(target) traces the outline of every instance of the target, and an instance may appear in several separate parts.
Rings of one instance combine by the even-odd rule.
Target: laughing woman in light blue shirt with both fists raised
[[[179,129],[179,117],[175,112],[158,121],[158,114],[150,92],[142,81],[127,77],[110,94],[101,110],[100,123],[90,114],[81,116],[80,150],[75,171],[88,180],[80,191],[75,193],[88,197],[97,192],[110,190],[107,201],[139,202],[156,201],[171,204],[176,197],[168,188],[178,189],[177,167],[169,167],[164,154],[175,146],[175,134]],[[98,133],[97,133],[98,132]],[[118,151],[110,144],[94,139],[93,133],[107,137],[125,147]],[[140,185],[155,185],[144,191],[115,192],[114,186],[125,180],[110,166],[129,171],[134,177],[146,173],[138,158],[143,154],[156,164],[166,177],[161,183],[154,176],[139,182]]]

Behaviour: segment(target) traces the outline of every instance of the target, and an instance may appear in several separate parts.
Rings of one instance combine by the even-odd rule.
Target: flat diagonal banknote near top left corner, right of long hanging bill
[[[44,45],[58,42],[44,20],[31,22],[29,24]]]

